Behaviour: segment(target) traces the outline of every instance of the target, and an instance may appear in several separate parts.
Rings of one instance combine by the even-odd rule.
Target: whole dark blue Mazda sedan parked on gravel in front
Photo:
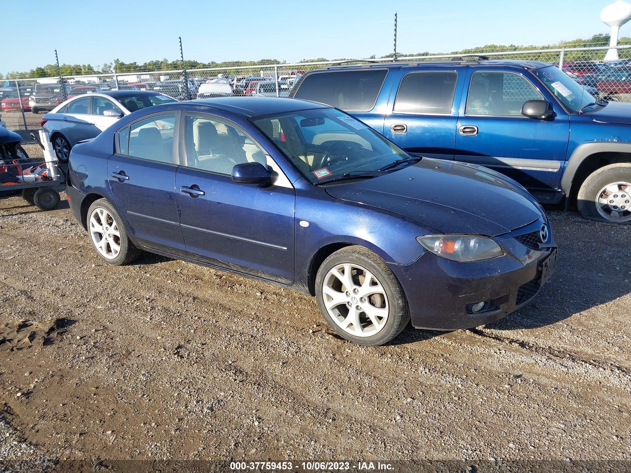
[[[68,200],[98,256],[141,250],[315,296],[340,336],[390,341],[504,317],[555,270],[545,211],[513,180],[410,156],[288,98],[168,103],[72,150]]]

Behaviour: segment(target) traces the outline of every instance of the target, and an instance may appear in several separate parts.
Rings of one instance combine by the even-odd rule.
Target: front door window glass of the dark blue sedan
[[[261,163],[267,157],[239,128],[204,115],[186,117],[186,165],[219,174],[232,174],[240,163]]]

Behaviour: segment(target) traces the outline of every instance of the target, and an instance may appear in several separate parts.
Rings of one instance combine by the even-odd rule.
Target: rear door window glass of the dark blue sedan
[[[173,163],[174,131],[175,114],[160,115],[134,123],[129,130],[127,155],[162,163]]]

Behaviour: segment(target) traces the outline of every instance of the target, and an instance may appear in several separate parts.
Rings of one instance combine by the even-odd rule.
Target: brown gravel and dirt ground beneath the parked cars
[[[150,254],[110,267],[65,200],[1,199],[0,460],[628,471],[631,226],[549,210],[560,267],[533,303],[372,348],[333,336],[312,298]]]

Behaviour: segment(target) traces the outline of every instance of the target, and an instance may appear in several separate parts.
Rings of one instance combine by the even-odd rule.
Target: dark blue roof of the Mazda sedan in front
[[[307,110],[309,108],[329,108],[322,103],[311,102],[310,100],[300,100],[297,98],[281,97],[223,97],[223,98],[203,98],[200,100],[190,100],[187,102],[195,105],[206,105],[217,110],[232,112],[246,117],[258,115],[283,114],[295,112],[297,110]]]

